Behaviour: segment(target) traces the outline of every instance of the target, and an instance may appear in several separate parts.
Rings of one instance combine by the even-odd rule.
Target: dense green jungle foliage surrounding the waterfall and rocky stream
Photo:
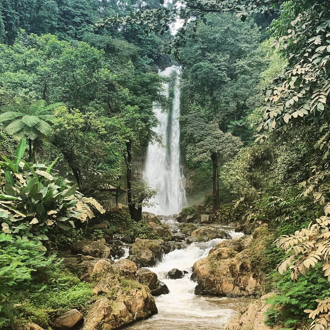
[[[168,107],[158,69],[173,63],[191,200],[212,190],[214,222],[260,227],[267,324],[330,328],[330,3],[160,2],[0,3],[0,328],[88,308],[93,283],[59,258],[77,241],[169,239],[142,218],[157,190],[133,170],[162,143],[152,106]]]

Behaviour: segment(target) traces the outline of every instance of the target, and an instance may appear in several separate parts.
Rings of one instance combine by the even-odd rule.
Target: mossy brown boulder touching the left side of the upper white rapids
[[[162,259],[162,243],[164,243],[163,240],[143,240],[136,238],[135,243],[129,249],[129,254],[137,256],[141,260],[141,266],[143,267],[154,266]]]

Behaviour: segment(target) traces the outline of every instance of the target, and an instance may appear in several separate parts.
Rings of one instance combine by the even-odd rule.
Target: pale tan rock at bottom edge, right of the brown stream
[[[255,330],[276,330],[281,328],[280,326],[270,327],[265,324],[268,320],[265,312],[270,308],[270,305],[266,304],[266,300],[274,295],[274,292],[270,292],[250,303],[243,314],[238,314],[231,318],[231,320],[225,325],[225,330],[243,330],[243,329],[255,329]]]

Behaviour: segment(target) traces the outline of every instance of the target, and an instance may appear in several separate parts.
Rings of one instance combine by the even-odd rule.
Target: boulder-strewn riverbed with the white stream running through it
[[[232,227],[147,217],[167,241],[85,239],[64,255],[66,267],[92,283],[96,298],[88,311],[73,308],[55,319],[55,329],[238,330],[262,323],[265,299],[247,309],[248,316],[237,316],[239,297],[260,283],[247,252],[251,236]]]

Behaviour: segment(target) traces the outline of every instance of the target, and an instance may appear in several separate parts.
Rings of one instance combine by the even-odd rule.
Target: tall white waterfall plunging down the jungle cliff
[[[170,77],[173,73],[177,73],[177,76],[174,82],[173,102],[168,112],[162,111],[156,105],[153,106],[153,111],[160,121],[155,132],[162,137],[165,147],[158,144],[148,146],[143,173],[143,177],[158,189],[158,195],[152,201],[157,205],[144,211],[157,215],[179,213],[186,202],[180,162],[180,90],[178,88],[180,70],[173,65],[159,74]],[[170,87],[169,83],[164,83],[167,97],[170,96]]]

